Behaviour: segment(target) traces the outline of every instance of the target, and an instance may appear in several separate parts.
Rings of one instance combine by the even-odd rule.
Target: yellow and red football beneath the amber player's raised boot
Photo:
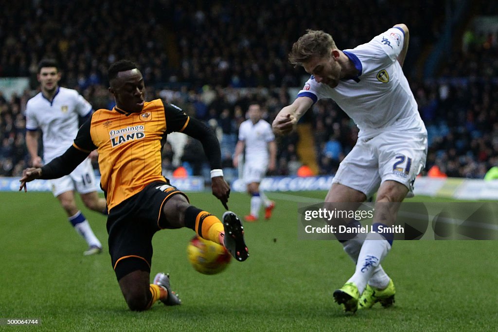
[[[187,246],[188,260],[194,269],[203,274],[217,274],[225,270],[232,259],[224,246],[194,236]]]

